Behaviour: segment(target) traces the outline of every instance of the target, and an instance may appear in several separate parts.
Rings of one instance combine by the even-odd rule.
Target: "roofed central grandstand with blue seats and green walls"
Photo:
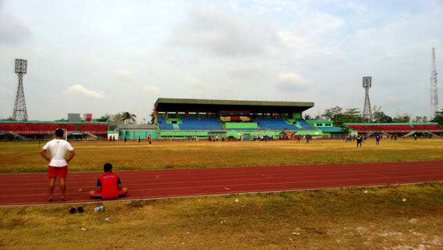
[[[154,118],[160,140],[321,137],[322,130],[302,119],[302,112],[313,106],[312,102],[159,98],[154,104]]]

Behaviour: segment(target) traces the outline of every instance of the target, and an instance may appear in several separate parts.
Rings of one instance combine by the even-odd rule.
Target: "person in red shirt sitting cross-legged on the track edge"
[[[98,177],[97,191],[89,191],[89,196],[93,199],[117,199],[122,198],[127,193],[127,188],[123,188],[120,178],[112,173],[112,164],[105,163],[103,166],[105,173]]]

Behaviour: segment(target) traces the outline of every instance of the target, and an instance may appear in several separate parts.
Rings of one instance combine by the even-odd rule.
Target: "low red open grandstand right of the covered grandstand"
[[[345,123],[345,127],[356,131],[359,134],[373,135],[373,134],[385,134],[385,135],[399,135],[399,136],[410,136],[410,135],[431,135],[431,136],[442,136],[443,130],[440,124],[437,122],[427,122],[427,123]]]

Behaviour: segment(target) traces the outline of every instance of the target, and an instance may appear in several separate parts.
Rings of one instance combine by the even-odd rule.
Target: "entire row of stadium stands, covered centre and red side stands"
[[[303,112],[314,102],[263,102],[219,99],[159,98],[154,104],[154,124],[119,124],[109,131],[108,122],[0,121],[1,140],[48,140],[56,128],[66,130],[68,140],[291,140],[342,138],[346,135],[442,136],[436,122],[345,123],[305,120]]]

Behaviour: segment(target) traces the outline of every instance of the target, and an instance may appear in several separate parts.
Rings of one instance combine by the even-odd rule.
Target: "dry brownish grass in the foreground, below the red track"
[[[0,248],[443,247],[442,183],[96,205],[74,215],[69,205],[1,207]]]

